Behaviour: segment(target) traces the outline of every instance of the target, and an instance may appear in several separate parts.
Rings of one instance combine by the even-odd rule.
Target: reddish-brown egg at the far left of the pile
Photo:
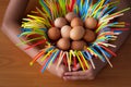
[[[57,39],[60,38],[60,36],[61,35],[60,35],[59,28],[57,28],[57,27],[49,28],[49,30],[48,30],[48,37],[49,37],[49,39],[57,40]]]

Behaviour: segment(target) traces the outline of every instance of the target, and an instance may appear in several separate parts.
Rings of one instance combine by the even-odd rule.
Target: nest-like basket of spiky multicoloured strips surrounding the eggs
[[[116,48],[110,41],[116,40],[122,30],[127,30],[123,28],[127,23],[116,22],[114,20],[122,16],[124,11],[130,10],[130,8],[128,8],[115,12],[118,3],[118,0],[115,2],[110,2],[109,0],[98,0],[97,2],[93,2],[92,0],[39,0],[41,9],[36,8],[36,11],[32,11],[32,14],[27,14],[27,17],[23,18],[22,33],[19,36],[22,42],[17,44],[17,46],[28,45],[25,50],[29,50],[31,48],[44,45],[39,53],[34,57],[29,63],[33,65],[34,62],[39,59],[43,63],[41,72],[44,72],[47,66],[50,67],[56,61],[56,69],[63,63],[69,71],[71,71],[72,66],[75,67],[76,63],[80,63],[83,71],[90,69],[91,65],[95,69],[93,59],[108,62],[112,67],[109,58],[111,58],[111,55],[116,57],[116,53],[108,47]],[[69,46],[68,50],[62,50],[57,46],[59,39],[51,40],[48,35],[49,28],[56,27],[55,21],[58,17],[64,17],[70,12],[76,14],[83,23],[85,23],[88,17],[97,21],[97,25],[92,30],[96,35],[96,39],[92,42],[87,42],[82,38],[79,39],[85,42],[82,50],[72,49],[71,46]],[[70,22],[68,22],[68,25],[70,26]],[[83,25],[83,27],[85,28],[85,25]],[[72,26],[71,29],[73,29]],[[61,28],[59,28],[59,30],[61,30]],[[59,38],[62,38],[62,36]],[[73,40],[71,38],[69,39],[71,44]]]

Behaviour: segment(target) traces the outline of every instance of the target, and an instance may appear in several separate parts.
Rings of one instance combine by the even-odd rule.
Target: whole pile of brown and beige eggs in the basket
[[[87,17],[84,22],[73,12],[55,20],[55,27],[48,29],[48,37],[61,50],[83,50],[96,39],[94,29],[97,20]]]

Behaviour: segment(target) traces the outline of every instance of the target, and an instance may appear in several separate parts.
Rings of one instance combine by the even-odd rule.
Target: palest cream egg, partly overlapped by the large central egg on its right
[[[66,25],[61,28],[61,36],[64,38],[70,38],[70,30],[71,27],[69,25]]]

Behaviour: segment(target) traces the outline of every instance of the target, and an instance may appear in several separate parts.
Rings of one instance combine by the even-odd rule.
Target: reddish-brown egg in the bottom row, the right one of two
[[[73,50],[83,50],[86,42],[84,40],[72,41],[71,49]]]

